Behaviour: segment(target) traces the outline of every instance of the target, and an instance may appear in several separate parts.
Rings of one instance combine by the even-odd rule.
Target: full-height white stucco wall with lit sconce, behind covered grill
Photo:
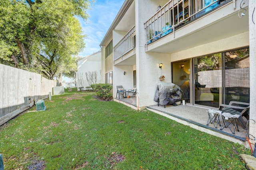
[[[160,2],[161,3],[161,2]],[[159,5],[159,1],[136,0],[136,76],[137,76],[137,106],[146,107],[157,104],[154,102],[156,86],[160,82],[171,82],[170,54],[145,52],[145,29],[142,21],[148,20]],[[148,9],[156,9],[148,10]],[[159,63],[163,63],[162,70]],[[164,75],[165,80],[159,77]],[[139,98],[139,100],[138,100]],[[138,103],[140,101],[140,103]]]

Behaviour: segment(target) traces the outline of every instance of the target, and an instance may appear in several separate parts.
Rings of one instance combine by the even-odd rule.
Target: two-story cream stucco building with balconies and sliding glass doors
[[[188,105],[247,102],[255,120],[254,8],[251,0],[125,0],[100,43],[102,82],[113,84],[115,101],[116,86],[136,85],[139,109],[156,105],[158,83],[172,82]]]

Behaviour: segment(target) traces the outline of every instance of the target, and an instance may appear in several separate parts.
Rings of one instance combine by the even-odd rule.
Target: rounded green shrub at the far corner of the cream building
[[[112,85],[110,84],[92,84],[92,89],[96,92],[96,95],[104,100],[112,100],[113,94],[111,93]]]

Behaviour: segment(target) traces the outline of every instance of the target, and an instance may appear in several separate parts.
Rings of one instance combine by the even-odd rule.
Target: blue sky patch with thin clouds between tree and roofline
[[[87,38],[84,39],[86,48],[79,53],[79,56],[85,57],[100,50],[100,42],[123,3],[124,0],[95,0],[91,10],[87,11],[90,18],[86,22],[80,20],[83,33],[87,35]]]

